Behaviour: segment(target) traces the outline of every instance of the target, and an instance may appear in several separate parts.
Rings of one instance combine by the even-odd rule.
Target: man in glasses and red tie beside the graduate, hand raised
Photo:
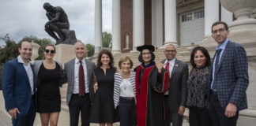
[[[175,58],[177,51],[174,45],[165,47],[166,59],[162,61],[164,69],[170,72],[170,88],[164,94],[165,109],[167,109],[164,125],[181,126],[186,104],[186,80],[188,78],[188,65]]]

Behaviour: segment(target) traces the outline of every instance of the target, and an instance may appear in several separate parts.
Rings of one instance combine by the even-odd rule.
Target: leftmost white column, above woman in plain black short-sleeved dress
[[[102,1],[95,0],[95,51],[94,54],[97,55],[102,46]]]

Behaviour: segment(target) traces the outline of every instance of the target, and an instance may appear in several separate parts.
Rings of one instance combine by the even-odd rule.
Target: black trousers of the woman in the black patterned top
[[[209,117],[209,110],[198,108],[198,107],[190,107],[189,114],[190,126],[211,126],[212,122]]]

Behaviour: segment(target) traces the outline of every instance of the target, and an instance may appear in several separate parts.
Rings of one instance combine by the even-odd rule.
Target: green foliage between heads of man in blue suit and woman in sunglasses
[[[21,41],[19,43],[21,43],[22,41],[28,41],[28,42],[34,42],[34,43],[37,43],[40,45],[40,48],[38,50],[38,54],[39,56],[36,58],[36,60],[42,60],[43,57],[44,57],[44,54],[43,54],[43,49],[44,49],[44,46],[46,46],[47,44],[53,44],[55,45],[55,43],[53,41],[51,41],[51,39],[38,39],[36,36],[26,36],[24,37],[23,39],[21,39]]]

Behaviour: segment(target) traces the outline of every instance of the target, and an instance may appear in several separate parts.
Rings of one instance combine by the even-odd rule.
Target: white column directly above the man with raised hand
[[[177,45],[176,1],[164,0],[164,45]]]

